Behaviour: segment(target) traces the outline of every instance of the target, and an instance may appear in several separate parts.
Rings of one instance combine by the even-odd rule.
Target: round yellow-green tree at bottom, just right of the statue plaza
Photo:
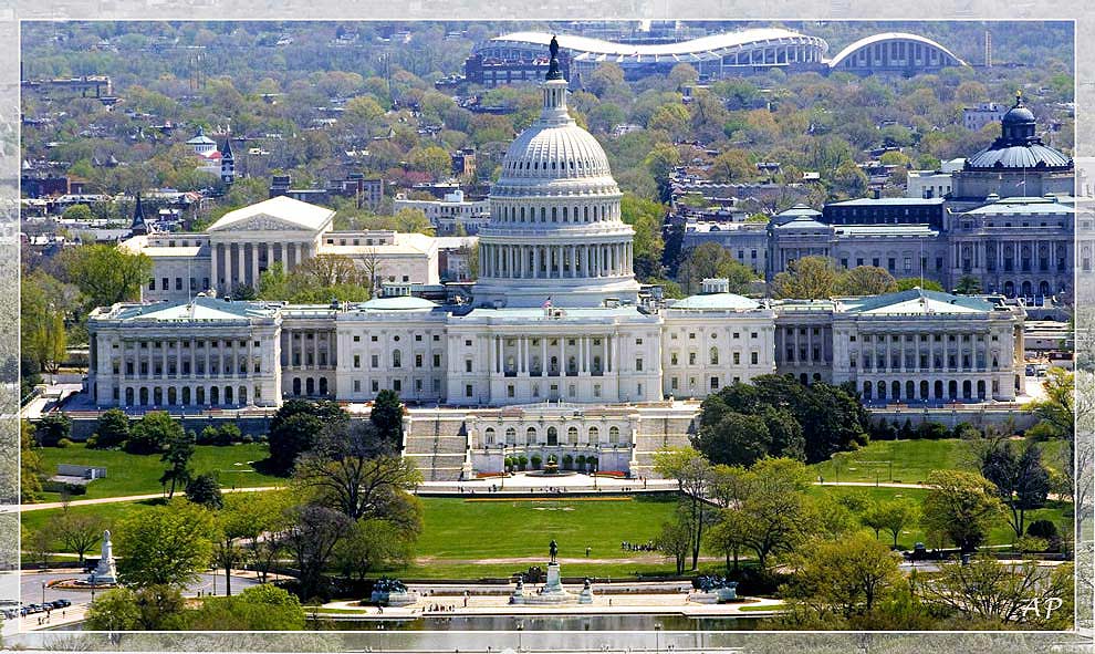
[[[845,620],[870,613],[886,593],[903,583],[899,558],[863,534],[815,543],[796,562],[785,594],[820,614],[835,612]]]

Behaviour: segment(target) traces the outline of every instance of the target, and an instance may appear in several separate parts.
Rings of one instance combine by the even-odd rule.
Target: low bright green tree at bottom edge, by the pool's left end
[[[296,595],[270,584],[209,598],[187,615],[191,631],[301,631],[304,624],[304,609]]]

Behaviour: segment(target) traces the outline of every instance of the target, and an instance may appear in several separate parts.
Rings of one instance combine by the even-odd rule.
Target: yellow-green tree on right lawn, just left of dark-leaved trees
[[[997,487],[981,475],[961,470],[934,470],[928,487],[921,525],[946,534],[963,552],[974,551],[1003,510]]]

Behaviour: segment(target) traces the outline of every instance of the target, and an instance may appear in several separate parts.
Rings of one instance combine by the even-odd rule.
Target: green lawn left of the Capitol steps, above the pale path
[[[160,492],[159,477],[166,465],[159,455],[127,454],[114,449],[88,449],[83,443],[69,447],[43,447],[36,450],[50,475],[56,473],[58,464],[101,466],[106,468],[106,478],[87,485],[87,494],[73,496],[77,499],[123,497]],[[267,445],[199,445],[195,447],[191,468],[195,475],[217,473],[225,488],[248,488],[254,486],[277,486],[284,479],[255,471],[248,461],[260,461],[268,456]],[[59,501],[60,494],[42,494],[42,501]]]

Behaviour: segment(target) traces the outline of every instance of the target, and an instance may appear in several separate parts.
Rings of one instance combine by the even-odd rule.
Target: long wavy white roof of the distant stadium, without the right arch
[[[574,34],[557,34],[560,48],[570,50],[575,59],[597,60],[606,56],[615,58],[676,58],[680,61],[695,61],[719,56],[716,52],[731,50],[734,48],[748,46],[754,43],[766,41],[778,41],[780,39],[801,39],[816,43],[823,51],[828,50],[824,40],[816,37],[807,37],[791,30],[779,28],[761,28],[742,30],[739,32],[723,32],[700,37],[689,41],[678,41],[676,43],[615,43],[602,39],[591,39]],[[532,43],[548,46],[551,43],[552,34],[548,32],[511,32],[491,39],[492,43]]]

